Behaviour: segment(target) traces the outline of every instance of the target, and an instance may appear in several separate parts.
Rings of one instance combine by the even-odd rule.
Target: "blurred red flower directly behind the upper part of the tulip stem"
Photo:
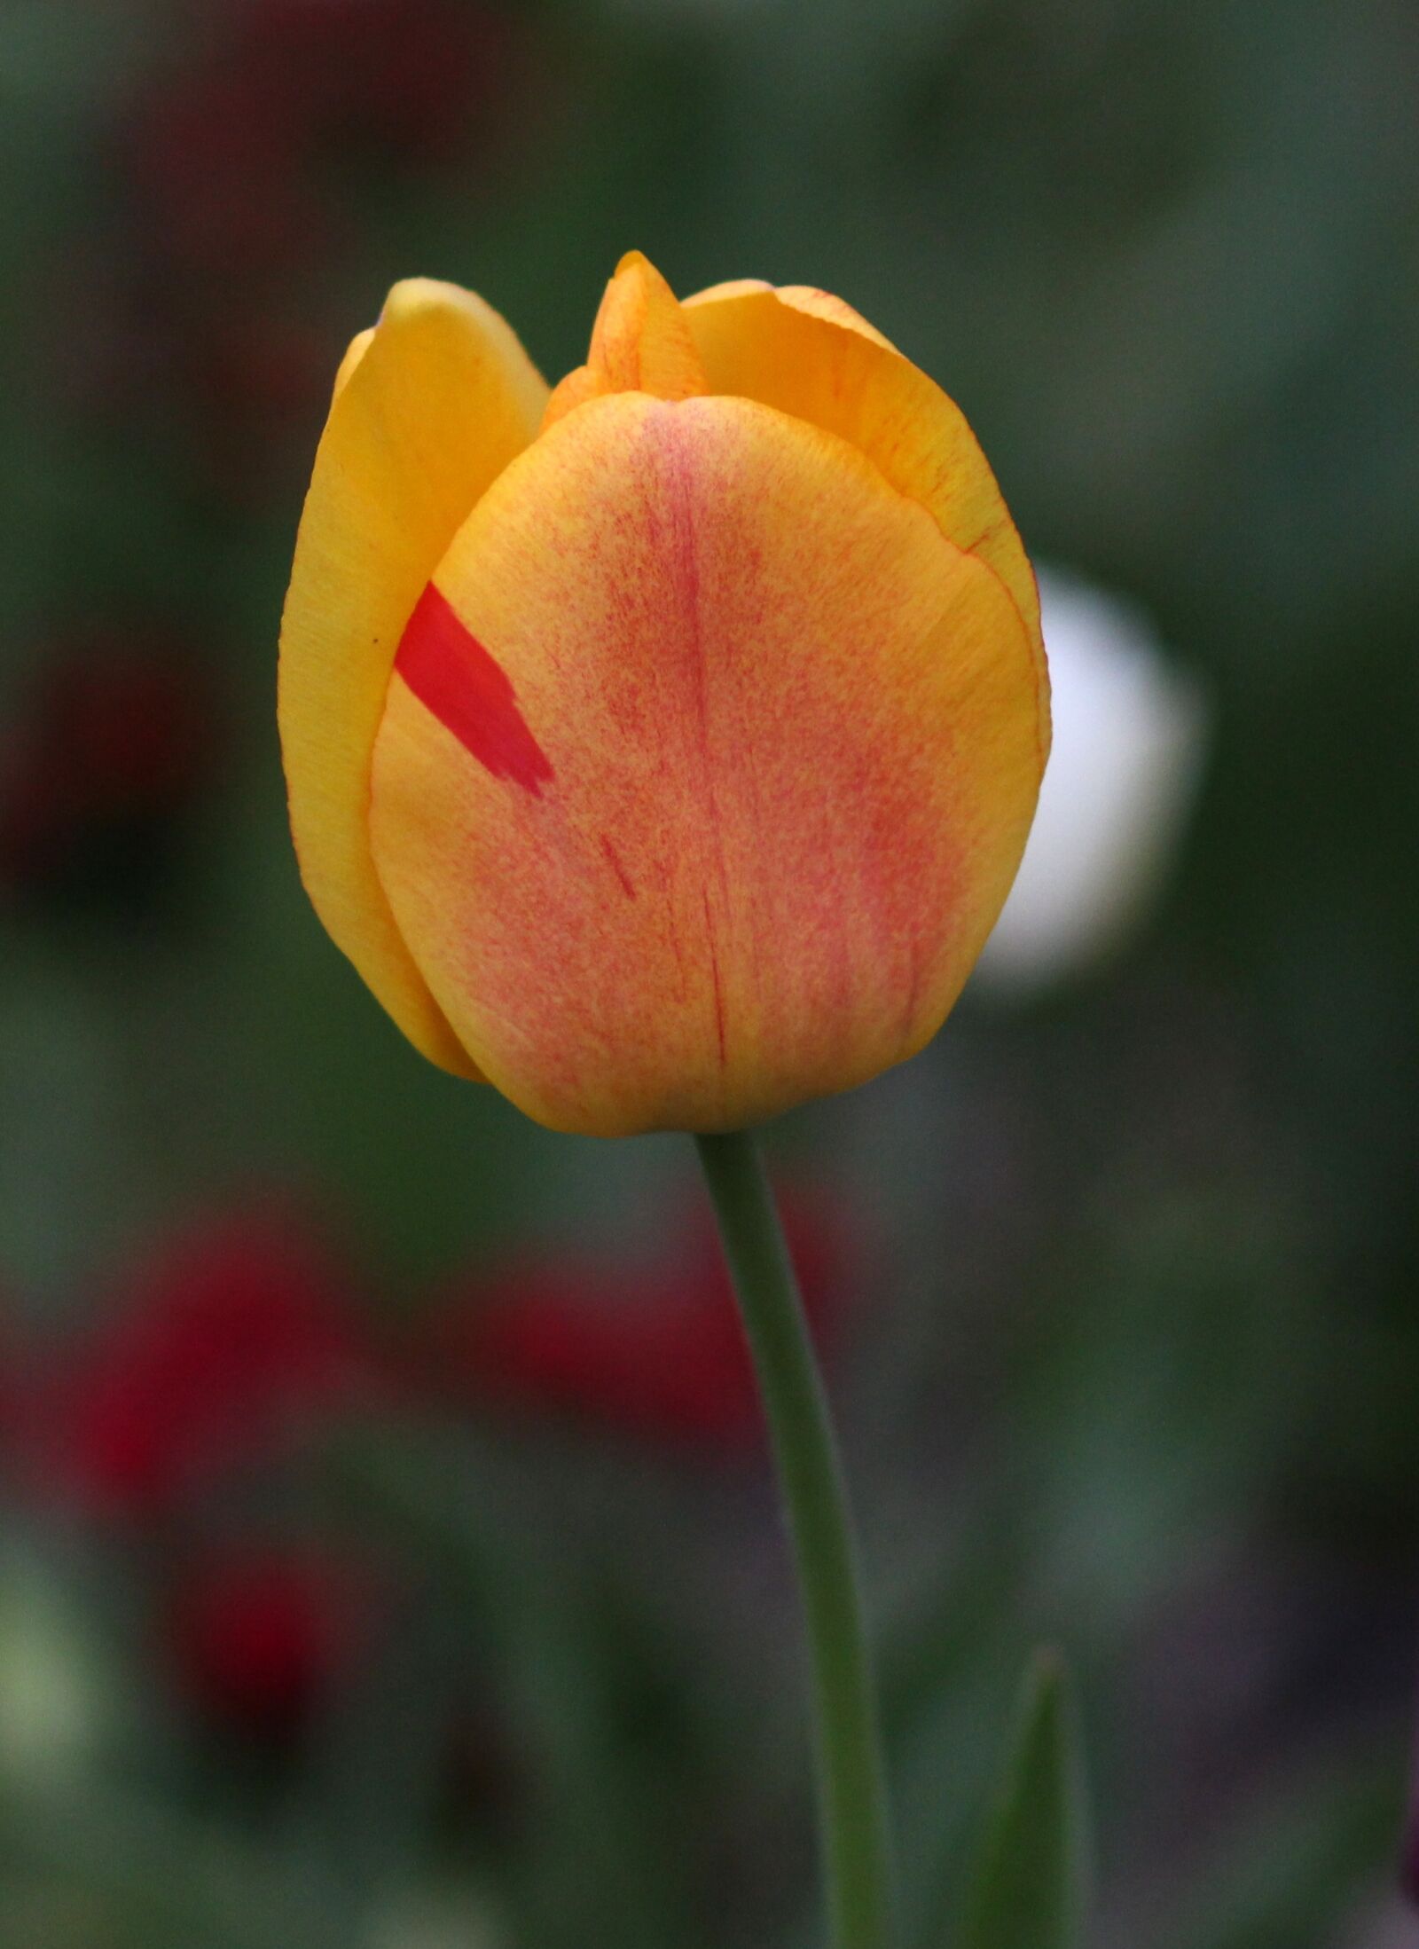
[[[786,1203],[809,1323],[823,1339],[844,1296],[840,1214]],[[462,1401],[552,1409],[657,1440],[735,1448],[760,1427],[754,1374],[708,1214],[674,1257],[608,1271],[575,1257],[460,1282],[427,1321],[435,1386]]]

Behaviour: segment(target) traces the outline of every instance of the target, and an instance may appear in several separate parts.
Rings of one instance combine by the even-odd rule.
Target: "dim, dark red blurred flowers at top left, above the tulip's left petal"
[[[173,39],[191,27],[173,16]],[[136,390],[203,493],[248,507],[320,423],[324,304],[359,234],[329,164],[439,166],[520,129],[526,21],[464,0],[222,0],[119,117],[129,329],[109,390]],[[530,88],[530,84],[528,84]],[[339,337],[343,345],[347,331]],[[150,394],[177,407],[154,415]]]

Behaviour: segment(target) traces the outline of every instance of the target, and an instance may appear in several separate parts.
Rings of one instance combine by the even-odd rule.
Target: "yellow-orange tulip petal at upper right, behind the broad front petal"
[[[710,392],[762,400],[852,440],[893,487],[930,509],[947,540],[1000,577],[1035,645],[1047,698],[1035,575],[955,401],[823,290],[717,285],[686,298],[682,312]]]

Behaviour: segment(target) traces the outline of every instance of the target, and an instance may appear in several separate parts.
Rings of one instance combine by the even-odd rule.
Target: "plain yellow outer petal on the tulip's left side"
[[[546,384],[497,312],[411,279],[355,339],[316,454],[281,624],[279,717],[300,877],[403,1033],[472,1074],[400,939],[368,840],[394,651],[470,509],[534,437]]]

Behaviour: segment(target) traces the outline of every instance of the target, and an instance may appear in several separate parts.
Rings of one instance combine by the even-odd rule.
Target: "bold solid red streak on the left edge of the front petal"
[[[394,669],[493,778],[542,797],[552,764],[517,707],[507,672],[433,583],[409,616]]]

